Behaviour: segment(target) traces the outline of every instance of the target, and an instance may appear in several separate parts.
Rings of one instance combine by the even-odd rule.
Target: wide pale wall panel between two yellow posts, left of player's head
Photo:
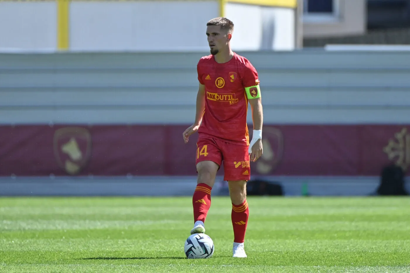
[[[70,48],[208,50],[206,23],[218,16],[216,0],[73,1],[70,5]]]

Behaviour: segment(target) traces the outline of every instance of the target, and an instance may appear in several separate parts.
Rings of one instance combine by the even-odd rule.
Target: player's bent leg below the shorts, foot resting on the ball
[[[205,218],[211,207],[211,190],[215,184],[218,164],[212,161],[201,161],[196,164],[198,171],[198,181],[194,195],[192,196],[192,206],[194,207],[194,228],[191,234],[205,233]]]

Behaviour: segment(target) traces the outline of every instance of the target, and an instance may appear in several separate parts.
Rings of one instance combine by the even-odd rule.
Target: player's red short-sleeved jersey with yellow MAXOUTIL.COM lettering
[[[234,53],[223,64],[217,63],[213,55],[202,57],[197,70],[199,82],[205,85],[205,111],[198,133],[249,145],[245,87],[259,84],[256,69],[245,57]]]

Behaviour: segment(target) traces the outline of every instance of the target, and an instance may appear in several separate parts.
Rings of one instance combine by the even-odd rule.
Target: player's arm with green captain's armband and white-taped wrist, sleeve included
[[[255,162],[262,156],[262,125],[263,125],[263,110],[260,92],[260,84],[256,69],[251,63],[248,63],[244,72],[244,86],[246,97],[251,105],[253,134],[251,143],[249,143],[248,152],[250,160]]]

